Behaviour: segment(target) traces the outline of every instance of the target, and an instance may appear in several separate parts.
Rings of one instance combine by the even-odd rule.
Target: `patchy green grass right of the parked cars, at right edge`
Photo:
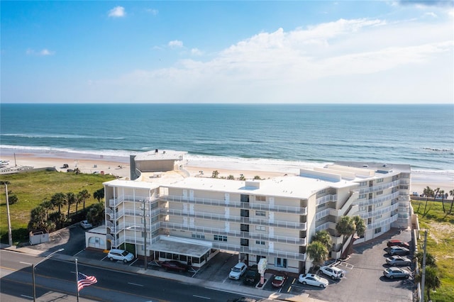
[[[418,214],[421,228],[420,249],[423,245],[423,230],[428,230],[427,252],[436,257],[440,272],[441,287],[431,293],[432,301],[454,301],[454,214],[446,215],[440,201],[428,201],[430,211],[423,216],[426,201],[411,201],[414,212]],[[445,201],[448,211],[450,201]],[[427,295],[426,295],[427,296]]]

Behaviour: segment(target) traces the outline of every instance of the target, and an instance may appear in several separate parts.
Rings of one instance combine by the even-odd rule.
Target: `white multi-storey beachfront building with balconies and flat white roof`
[[[131,157],[131,179],[104,183],[106,233],[111,247],[135,245],[138,256],[175,259],[201,267],[220,250],[248,265],[307,272],[306,247],[318,230],[341,257],[342,216],[367,225],[355,243],[390,228],[409,226],[409,165],[338,162],[299,174],[254,180],[189,176],[185,152],[145,152]]]

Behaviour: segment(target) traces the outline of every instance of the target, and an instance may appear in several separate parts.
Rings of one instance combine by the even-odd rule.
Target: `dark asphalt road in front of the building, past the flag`
[[[31,263],[38,259],[30,255],[1,250],[1,301],[30,301],[33,298]],[[100,267],[79,264],[79,272],[96,276],[98,283],[80,291],[87,301],[227,301],[238,295],[224,291],[184,284],[170,279],[128,274]],[[50,301],[49,293],[58,299],[77,295],[75,264],[46,259],[35,267],[37,301]],[[55,296],[55,294],[54,294]],[[55,298],[55,297],[52,297]]]

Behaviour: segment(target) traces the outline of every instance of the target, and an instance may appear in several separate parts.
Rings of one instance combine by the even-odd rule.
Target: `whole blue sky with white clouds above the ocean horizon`
[[[453,1],[1,1],[3,103],[453,104]]]

